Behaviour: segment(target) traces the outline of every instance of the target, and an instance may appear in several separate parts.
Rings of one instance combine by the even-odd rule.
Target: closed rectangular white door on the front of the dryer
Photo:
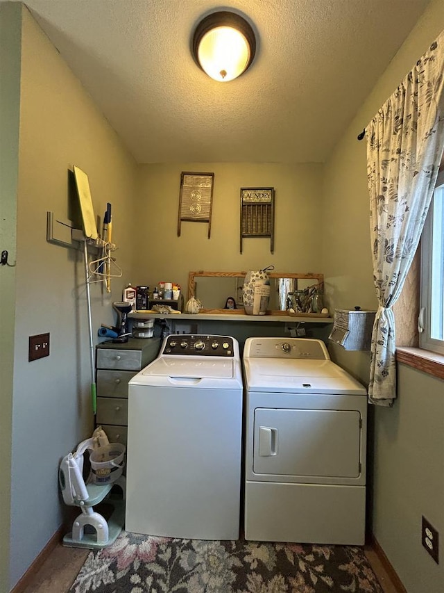
[[[257,408],[253,472],[358,478],[360,420],[356,410]]]

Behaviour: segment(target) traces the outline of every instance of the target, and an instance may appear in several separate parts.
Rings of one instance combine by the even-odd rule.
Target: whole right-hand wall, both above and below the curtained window
[[[443,29],[444,3],[432,0],[326,163],[323,272],[335,307],[376,306],[366,145],[365,140],[357,141],[357,134]],[[368,384],[368,353],[345,352],[332,345],[330,351]],[[435,564],[422,548],[421,517],[424,514],[444,533],[444,384],[404,365],[399,365],[398,380],[398,400],[392,409],[370,407],[374,432],[371,528],[409,593],[438,593],[443,589],[444,557],[441,549],[440,564]]]

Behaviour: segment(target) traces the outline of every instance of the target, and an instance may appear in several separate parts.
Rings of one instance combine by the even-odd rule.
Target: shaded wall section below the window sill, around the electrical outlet
[[[375,415],[373,532],[409,593],[442,593],[444,381],[400,364],[398,391]],[[439,565],[421,545],[422,515],[440,535]]]

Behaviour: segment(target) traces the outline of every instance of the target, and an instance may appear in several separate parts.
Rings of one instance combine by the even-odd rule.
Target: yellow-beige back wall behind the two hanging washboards
[[[160,280],[187,286],[191,270],[237,271],[275,266],[283,272],[321,270],[320,164],[178,163],[140,165],[133,284]],[[177,236],[180,172],[214,172],[211,238],[205,222],[182,222]],[[244,239],[239,251],[241,187],[275,188],[275,250],[268,238]],[[186,295],[185,295],[186,296]]]

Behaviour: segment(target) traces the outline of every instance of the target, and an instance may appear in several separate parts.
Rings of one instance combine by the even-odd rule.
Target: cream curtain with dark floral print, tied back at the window
[[[395,320],[424,226],[444,147],[444,31],[366,127],[373,279],[371,403],[396,397]]]

